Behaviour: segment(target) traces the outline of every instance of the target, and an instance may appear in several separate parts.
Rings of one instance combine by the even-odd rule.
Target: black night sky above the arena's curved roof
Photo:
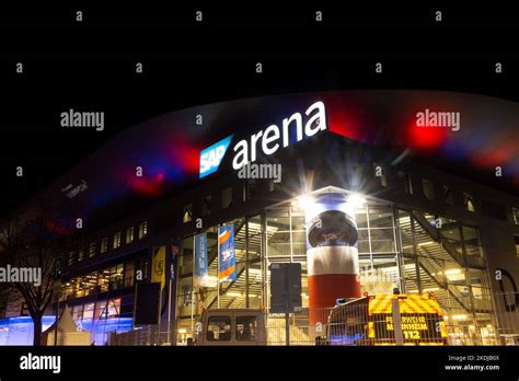
[[[332,2],[331,2],[332,3]],[[204,23],[194,12],[204,11]],[[0,5],[0,216],[117,132],[150,117],[232,99],[348,89],[466,91],[519,101],[519,18],[488,7],[365,9],[8,9]],[[493,73],[494,62],[504,73]],[[14,72],[16,62],[24,73]],[[136,61],[145,73],[134,72]],[[264,73],[254,72],[262,61]],[[384,62],[384,73],[372,66]],[[104,131],[68,131],[59,114],[100,109]],[[25,175],[16,178],[14,168]]]

